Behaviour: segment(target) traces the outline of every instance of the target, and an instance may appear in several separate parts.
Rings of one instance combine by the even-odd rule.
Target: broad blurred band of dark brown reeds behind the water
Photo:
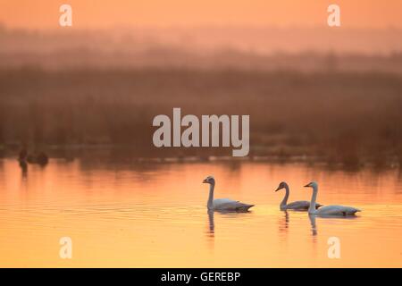
[[[397,74],[30,67],[0,69],[0,94],[3,153],[26,145],[46,152],[122,147],[134,157],[230,156],[222,147],[154,147],[153,118],[180,107],[197,116],[249,114],[251,158],[315,158],[350,167],[402,163]]]

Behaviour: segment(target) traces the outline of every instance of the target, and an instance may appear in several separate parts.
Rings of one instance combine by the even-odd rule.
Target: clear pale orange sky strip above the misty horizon
[[[325,25],[329,4],[340,5],[345,28],[402,28],[401,0],[0,0],[0,22],[9,28],[56,29],[61,4],[71,4],[74,29]]]

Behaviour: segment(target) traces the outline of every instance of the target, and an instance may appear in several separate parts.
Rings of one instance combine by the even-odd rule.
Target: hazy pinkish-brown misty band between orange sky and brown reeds
[[[0,25],[0,27],[2,27]],[[402,71],[402,29],[0,28],[0,67]],[[350,40],[353,38],[353,41]]]

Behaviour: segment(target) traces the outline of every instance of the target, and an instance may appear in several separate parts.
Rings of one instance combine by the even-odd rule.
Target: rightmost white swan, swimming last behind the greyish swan
[[[306,188],[313,188],[313,196],[311,198],[310,207],[308,208],[308,214],[317,215],[355,215],[361,210],[352,206],[322,206],[319,209],[315,209],[315,199],[318,193],[318,184],[315,181],[310,182],[305,186]]]

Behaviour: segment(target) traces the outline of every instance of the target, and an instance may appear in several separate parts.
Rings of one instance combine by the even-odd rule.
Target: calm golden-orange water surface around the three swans
[[[247,214],[208,214],[215,198],[256,206]],[[290,201],[310,199],[363,210],[356,218],[281,212],[280,181]],[[72,259],[59,257],[71,237]],[[339,259],[328,258],[338,237]],[[110,164],[52,160],[45,168],[0,160],[0,266],[402,267],[402,172],[330,171],[305,164]]]

